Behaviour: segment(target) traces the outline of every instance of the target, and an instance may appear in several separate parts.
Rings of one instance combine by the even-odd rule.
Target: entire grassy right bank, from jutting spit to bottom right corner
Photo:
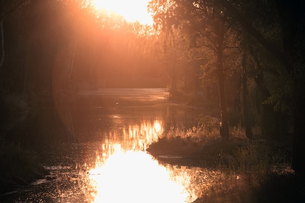
[[[220,172],[213,183],[201,185],[200,198],[194,203],[305,202],[304,180],[290,168],[290,152],[286,148],[276,148],[258,134],[248,140],[238,126],[230,128],[230,136],[228,142],[222,142],[217,119],[203,116],[197,127],[187,131],[171,129],[148,152],[154,156],[184,156],[183,165],[200,160],[205,163],[202,167]]]

